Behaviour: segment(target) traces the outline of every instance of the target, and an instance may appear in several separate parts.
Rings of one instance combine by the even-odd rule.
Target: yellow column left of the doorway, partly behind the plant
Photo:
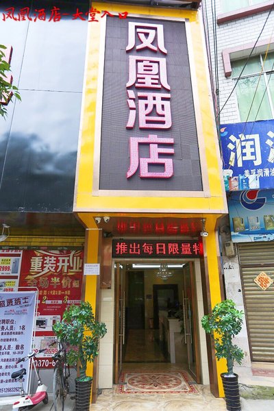
[[[100,262],[101,229],[87,229],[85,242],[85,262],[97,264]],[[96,314],[97,299],[99,290],[99,276],[86,275],[84,278],[84,301],[88,301],[92,306],[93,313]],[[86,375],[93,377],[93,362],[88,362]],[[96,385],[94,377],[92,386]],[[92,389],[93,391],[93,389]]]

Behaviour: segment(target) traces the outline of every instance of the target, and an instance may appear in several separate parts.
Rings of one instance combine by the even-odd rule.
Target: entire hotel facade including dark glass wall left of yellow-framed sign
[[[201,327],[224,297],[227,202],[199,3],[1,11],[22,97],[1,120],[1,261],[14,274],[2,288],[38,288],[37,347],[65,306],[90,301],[108,328],[88,369],[94,400],[128,363],[155,357],[223,396],[225,362]]]

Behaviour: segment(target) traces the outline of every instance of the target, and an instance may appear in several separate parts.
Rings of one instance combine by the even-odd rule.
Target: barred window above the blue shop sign
[[[247,60],[232,62],[236,82]],[[240,121],[274,119],[274,52],[249,58],[236,86]]]

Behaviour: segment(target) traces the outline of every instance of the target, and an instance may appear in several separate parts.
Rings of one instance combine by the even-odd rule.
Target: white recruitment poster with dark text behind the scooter
[[[32,350],[36,295],[34,291],[0,292],[0,397],[20,394],[20,384],[11,378],[16,369],[26,369],[27,388],[29,364],[15,362]]]

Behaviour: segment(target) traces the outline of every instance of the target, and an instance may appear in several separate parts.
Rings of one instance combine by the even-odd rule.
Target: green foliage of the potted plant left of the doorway
[[[86,375],[87,362],[98,356],[99,339],[107,332],[105,323],[95,320],[90,303],[66,308],[62,321],[53,325],[53,331],[58,340],[69,345],[66,358],[70,365],[77,364],[78,379],[90,379]]]

